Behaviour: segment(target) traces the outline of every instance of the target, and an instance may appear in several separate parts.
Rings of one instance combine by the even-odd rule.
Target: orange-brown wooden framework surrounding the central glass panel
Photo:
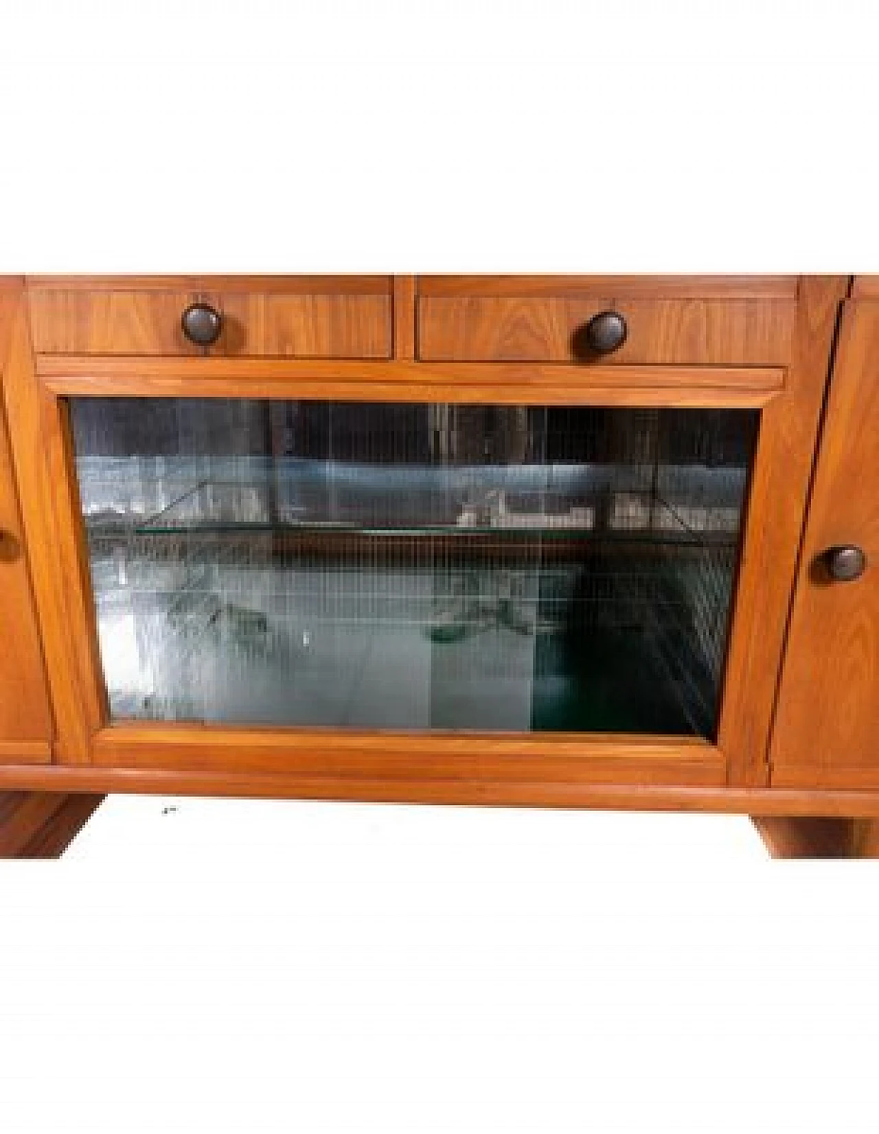
[[[133,787],[138,772],[155,771],[181,772],[193,782],[198,776],[264,776],[279,794],[366,798],[430,798],[430,785],[454,782],[462,798],[482,803],[501,802],[512,790],[517,802],[539,804],[553,785],[766,786],[806,489],[846,285],[845,277],[800,279],[787,367],[419,363],[396,311],[397,356],[389,362],[35,357],[22,305],[6,408],[54,708],[53,762],[124,769]],[[397,293],[414,304],[408,284]],[[718,743],[111,723],[64,401],[88,396],[760,409]]]

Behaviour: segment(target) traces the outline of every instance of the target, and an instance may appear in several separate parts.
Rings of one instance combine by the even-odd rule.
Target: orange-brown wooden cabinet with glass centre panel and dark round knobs
[[[879,279],[7,277],[0,854],[108,793],[877,853]]]

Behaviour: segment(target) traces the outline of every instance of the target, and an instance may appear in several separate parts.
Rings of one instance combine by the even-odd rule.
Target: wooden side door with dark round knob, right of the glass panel
[[[843,319],[771,768],[777,786],[879,787],[879,302]]]

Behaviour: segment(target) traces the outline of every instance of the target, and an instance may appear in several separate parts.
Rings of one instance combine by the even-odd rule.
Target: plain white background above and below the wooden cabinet
[[[872,8],[5,3],[0,271],[877,271]],[[0,870],[0,1127],[872,1131],[876,912],[737,818],[117,797]]]

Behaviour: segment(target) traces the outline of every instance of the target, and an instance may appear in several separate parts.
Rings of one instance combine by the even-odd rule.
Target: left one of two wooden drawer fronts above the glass
[[[388,277],[333,277],[168,284],[28,286],[34,348],[41,354],[197,355],[184,311],[206,304],[220,319],[210,347],[221,356],[387,358],[390,355]]]

